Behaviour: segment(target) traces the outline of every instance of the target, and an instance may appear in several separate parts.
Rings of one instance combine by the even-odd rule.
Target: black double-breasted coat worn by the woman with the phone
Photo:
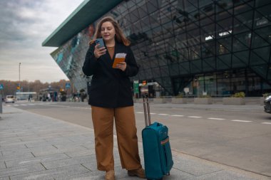
[[[133,51],[129,46],[117,43],[115,46],[116,53],[126,53],[126,70],[112,68],[113,60],[108,51],[96,59],[94,56],[94,46],[92,43],[86,53],[85,62],[83,63],[83,73],[93,75],[91,87],[89,89],[88,104],[98,107],[126,107],[133,105],[133,94],[129,76],[138,73],[138,65],[133,56]]]

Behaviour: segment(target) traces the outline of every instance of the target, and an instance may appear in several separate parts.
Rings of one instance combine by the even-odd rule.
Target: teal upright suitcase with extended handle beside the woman
[[[163,179],[170,175],[173,158],[168,137],[168,127],[159,122],[150,124],[148,97],[143,97],[145,125],[142,130],[146,179]]]

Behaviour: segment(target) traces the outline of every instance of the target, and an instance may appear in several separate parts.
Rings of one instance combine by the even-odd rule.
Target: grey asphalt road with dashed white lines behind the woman
[[[91,107],[83,102],[16,102],[7,104],[39,115],[93,128]],[[175,151],[271,176],[271,115],[151,106],[152,121],[170,129]],[[136,103],[138,139],[145,126],[143,105]]]

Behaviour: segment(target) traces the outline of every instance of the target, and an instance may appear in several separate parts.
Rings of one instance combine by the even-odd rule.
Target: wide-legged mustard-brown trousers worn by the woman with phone
[[[136,118],[133,106],[105,108],[91,106],[95,134],[97,168],[100,171],[114,169],[113,159],[113,121],[117,132],[118,153],[123,169],[141,167],[136,135]]]

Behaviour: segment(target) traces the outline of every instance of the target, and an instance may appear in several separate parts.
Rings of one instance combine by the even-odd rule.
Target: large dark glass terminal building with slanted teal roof
[[[88,42],[112,16],[140,65],[131,83],[146,80],[154,95],[262,96],[271,91],[270,9],[269,0],[85,0],[42,45],[58,47],[51,56],[86,90]]]

